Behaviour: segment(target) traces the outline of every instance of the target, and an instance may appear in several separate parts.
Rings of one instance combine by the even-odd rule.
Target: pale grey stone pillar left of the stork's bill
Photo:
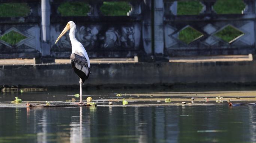
[[[50,15],[51,15],[51,7],[50,0],[42,0],[41,1],[41,9],[42,9],[42,48],[41,54],[42,56],[50,56],[51,55],[51,44],[50,44]]]

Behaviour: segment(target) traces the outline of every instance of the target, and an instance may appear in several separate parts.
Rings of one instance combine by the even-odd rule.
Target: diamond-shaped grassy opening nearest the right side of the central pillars
[[[181,31],[179,31],[179,40],[185,42],[186,44],[190,44],[191,42],[199,39],[203,36],[203,34],[196,29],[188,26]]]

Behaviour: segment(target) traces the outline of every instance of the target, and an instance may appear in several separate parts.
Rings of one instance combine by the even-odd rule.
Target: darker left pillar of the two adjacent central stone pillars
[[[143,3],[143,22],[142,22],[142,39],[143,47],[146,54],[152,54],[152,22],[151,22],[151,0],[144,0]]]

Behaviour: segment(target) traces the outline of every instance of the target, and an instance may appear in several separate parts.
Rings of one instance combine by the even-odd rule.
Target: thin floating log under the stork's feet
[[[42,104],[31,104],[27,103],[27,107],[88,107],[92,106],[91,104],[54,104],[54,105],[42,105]],[[94,105],[96,106],[96,105]]]

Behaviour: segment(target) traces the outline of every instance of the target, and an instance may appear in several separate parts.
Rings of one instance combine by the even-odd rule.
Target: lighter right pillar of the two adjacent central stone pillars
[[[154,0],[154,50],[155,55],[164,54],[164,1]]]

